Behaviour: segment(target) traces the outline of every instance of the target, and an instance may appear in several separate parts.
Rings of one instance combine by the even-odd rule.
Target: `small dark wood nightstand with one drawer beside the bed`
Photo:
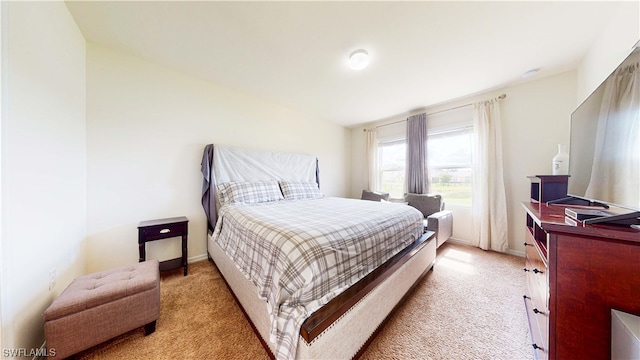
[[[140,251],[139,262],[146,260],[145,244],[148,241],[167,239],[172,237],[182,237],[182,257],[161,261],[160,270],[170,270],[179,267],[184,268],[184,276],[189,271],[187,265],[187,226],[189,219],[185,216],[141,221],[138,225],[138,250]]]

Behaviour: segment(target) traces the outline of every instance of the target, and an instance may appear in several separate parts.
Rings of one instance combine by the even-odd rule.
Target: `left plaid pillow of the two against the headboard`
[[[255,204],[284,199],[277,181],[227,182],[217,185],[220,205]]]

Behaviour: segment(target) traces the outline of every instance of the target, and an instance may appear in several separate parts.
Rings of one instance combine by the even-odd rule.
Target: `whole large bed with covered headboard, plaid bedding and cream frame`
[[[207,252],[272,357],[358,357],[433,267],[401,205],[325,197],[317,159],[207,145]]]

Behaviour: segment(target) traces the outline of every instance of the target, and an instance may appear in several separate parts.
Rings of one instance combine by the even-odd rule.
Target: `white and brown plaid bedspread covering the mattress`
[[[407,205],[321,198],[225,205],[213,239],[267,302],[274,355],[291,359],[309,315],[422,231]]]

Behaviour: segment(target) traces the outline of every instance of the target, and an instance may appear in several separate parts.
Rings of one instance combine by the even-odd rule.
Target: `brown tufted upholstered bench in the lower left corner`
[[[148,335],[159,316],[157,260],[85,275],[45,310],[47,348],[66,358],[141,326]]]

